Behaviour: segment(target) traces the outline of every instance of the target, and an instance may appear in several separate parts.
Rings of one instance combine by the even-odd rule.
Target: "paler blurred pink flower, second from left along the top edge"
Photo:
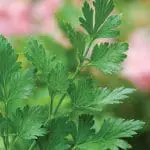
[[[45,0],[36,3],[33,7],[36,32],[56,34],[58,31],[54,13],[61,5],[62,0]],[[57,31],[57,32],[56,32]]]

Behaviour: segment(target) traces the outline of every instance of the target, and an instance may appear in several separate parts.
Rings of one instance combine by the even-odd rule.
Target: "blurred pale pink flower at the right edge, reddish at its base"
[[[150,30],[139,29],[129,39],[123,76],[141,90],[150,90]]]

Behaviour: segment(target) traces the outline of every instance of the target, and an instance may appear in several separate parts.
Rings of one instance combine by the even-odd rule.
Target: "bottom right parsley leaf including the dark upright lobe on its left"
[[[77,130],[80,132],[77,134],[81,134],[82,136],[80,137],[83,138],[83,140],[80,140],[82,142],[75,143],[75,147],[80,150],[119,150],[119,148],[126,150],[130,148],[130,145],[123,139],[134,136],[137,134],[136,131],[140,130],[144,125],[141,121],[106,119],[100,130],[94,133],[93,118],[91,116],[81,116],[81,118],[85,122],[82,127],[88,131],[88,134],[83,128],[82,130]],[[83,130],[85,132],[82,132]],[[90,131],[91,134],[89,134]]]

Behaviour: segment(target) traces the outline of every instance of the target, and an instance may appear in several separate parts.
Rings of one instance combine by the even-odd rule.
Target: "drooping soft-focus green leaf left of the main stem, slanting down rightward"
[[[68,76],[66,66],[56,58],[48,57],[42,44],[37,40],[31,39],[28,43],[26,56],[46,77],[49,92],[64,93],[68,88]]]

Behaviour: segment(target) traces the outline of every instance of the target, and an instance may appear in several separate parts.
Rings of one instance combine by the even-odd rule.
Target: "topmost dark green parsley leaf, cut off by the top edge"
[[[83,26],[93,38],[116,36],[112,28],[117,27],[120,21],[113,17],[108,18],[113,8],[114,4],[112,0],[95,0],[93,1],[93,7],[90,7],[90,4],[85,1],[82,8],[84,17],[79,19],[81,26]]]

